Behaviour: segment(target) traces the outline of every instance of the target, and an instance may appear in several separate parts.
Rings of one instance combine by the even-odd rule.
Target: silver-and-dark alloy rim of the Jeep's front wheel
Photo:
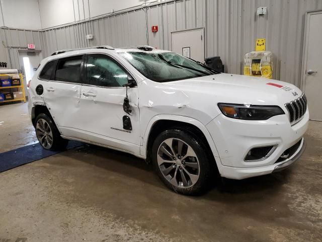
[[[197,155],[183,140],[164,140],[157,150],[157,164],[163,176],[177,188],[190,188],[198,181]]]

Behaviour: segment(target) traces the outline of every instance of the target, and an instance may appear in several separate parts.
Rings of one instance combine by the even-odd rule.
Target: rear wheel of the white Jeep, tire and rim
[[[46,150],[63,150],[68,140],[60,137],[60,133],[52,118],[46,113],[40,113],[35,119],[36,136],[40,145]]]

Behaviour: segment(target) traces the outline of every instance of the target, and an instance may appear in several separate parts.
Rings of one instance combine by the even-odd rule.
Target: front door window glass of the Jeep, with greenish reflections
[[[88,55],[86,66],[86,84],[103,87],[122,87],[128,82],[127,72],[107,55]]]

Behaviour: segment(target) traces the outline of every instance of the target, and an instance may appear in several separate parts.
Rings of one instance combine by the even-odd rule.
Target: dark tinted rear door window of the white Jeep
[[[55,81],[81,83],[83,55],[61,58],[58,61]]]

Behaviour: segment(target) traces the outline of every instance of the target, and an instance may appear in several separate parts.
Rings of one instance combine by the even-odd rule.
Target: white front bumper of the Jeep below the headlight
[[[215,159],[221,176],[243,179],[286,168],[304,150],[303,136],[308,119],[308,110],[293,126],[286,115],[277,115],[268,120],[239,120],[218,115],[206,127],[219,154]],[[298,142],[297,150],[286,160],[277,163],[282,153]],[[245,161],[252,148],[261,146],[276,146],[276,149],[265,159]]]

